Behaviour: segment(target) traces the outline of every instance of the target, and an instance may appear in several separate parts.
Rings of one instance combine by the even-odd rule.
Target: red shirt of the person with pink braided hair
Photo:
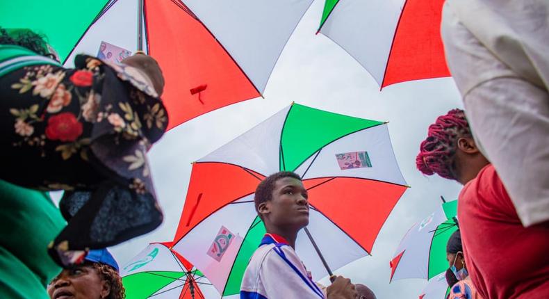
[[[465,185],[457,214],[465,264],[483,298],[549,298],[549,223],[523,227],[491,164]]]

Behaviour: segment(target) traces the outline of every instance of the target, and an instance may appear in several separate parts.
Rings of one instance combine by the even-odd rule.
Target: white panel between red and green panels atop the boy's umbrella
[[[280,135],[290,106],[272,115],[231,142],[215,149],[199,162],[225,162],[262,175],[279,171]]]

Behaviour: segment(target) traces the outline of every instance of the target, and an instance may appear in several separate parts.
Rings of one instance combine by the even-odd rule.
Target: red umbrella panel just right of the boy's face
[[[404,191],[405,186],[381,181],[336,177],[309,189],[309,203],[372,252],[379,230]]]

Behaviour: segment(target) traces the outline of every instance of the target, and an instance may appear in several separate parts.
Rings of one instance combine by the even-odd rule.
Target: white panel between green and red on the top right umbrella
[[[405,0],[340,0],[320,32],[354,57],[381,86]]]

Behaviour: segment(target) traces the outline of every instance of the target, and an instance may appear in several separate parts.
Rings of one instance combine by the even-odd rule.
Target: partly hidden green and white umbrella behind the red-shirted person
[[[391,281],[403,278],[430,280],[448,269],[446,243],[458,228],[456,214],[457,200],[445,202],[409,229],[391,260]]]

